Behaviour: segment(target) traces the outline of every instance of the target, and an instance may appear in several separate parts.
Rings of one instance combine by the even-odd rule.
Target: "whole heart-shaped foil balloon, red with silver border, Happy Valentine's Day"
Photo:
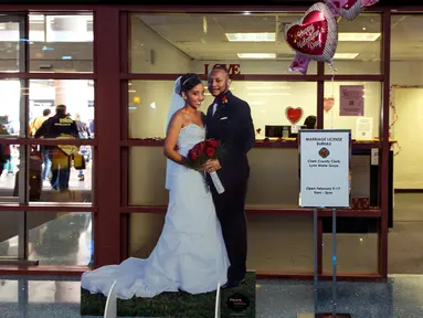
[[[300,55],[332,64],[338,45],[332,11],[322,2],[313,4],[299,21],[285,28],[285,40]]]

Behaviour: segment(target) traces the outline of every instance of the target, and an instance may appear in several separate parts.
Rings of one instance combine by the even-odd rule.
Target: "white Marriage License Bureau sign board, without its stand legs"
[[[350,153],[351,130],[300,130],[300,206],[350,206]]]

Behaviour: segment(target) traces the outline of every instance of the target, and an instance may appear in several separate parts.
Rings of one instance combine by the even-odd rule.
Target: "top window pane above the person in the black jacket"
[[[93,72],[93,14],[30,14],[31,72]]]

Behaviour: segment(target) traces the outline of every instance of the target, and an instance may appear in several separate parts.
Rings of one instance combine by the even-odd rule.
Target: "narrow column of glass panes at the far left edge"
[[[0,14],[0,204],[28,202],[27,137],[28,80],[15,73],[28,71],[28,32],[25,15]],[[14,141],[14,142],[13,142]],[[0,211],[0,264],[28,262],[27,212]]]

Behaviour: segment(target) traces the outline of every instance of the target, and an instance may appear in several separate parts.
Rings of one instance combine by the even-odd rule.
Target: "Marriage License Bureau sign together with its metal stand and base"
[[[352,317],[337,314],[337,208],[350,206],[351,130],[299,130],[300,203],[313,208],[315,312],[297,317]],[[328,178],[329,177],[329,178]],[[318,209],[332,216],[332,312],[318,311]]]

